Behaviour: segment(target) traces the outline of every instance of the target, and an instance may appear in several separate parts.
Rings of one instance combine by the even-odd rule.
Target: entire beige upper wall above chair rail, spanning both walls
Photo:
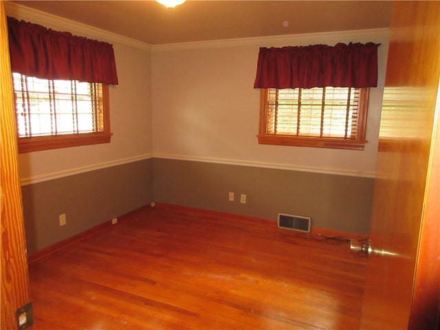
[[[10,9],[10,8],[9,8]],[[21,154],[23,184],[156,155],[227,164],[373,177],[388,52],[388,32],[301,34],[151,47],[27,8],[8,15],[113,43],[120,85],[110,89],[110,144]],[[364,151],[263,146],[256,140],[260,46],[382,43],[379,87],[371,91]],[[153,143],[154,142],[154,143]]]

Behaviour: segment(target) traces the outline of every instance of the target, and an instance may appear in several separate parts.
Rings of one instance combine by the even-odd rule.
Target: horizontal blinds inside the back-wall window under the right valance
[[[267,134],[355,138],[360,89],[269,89]]]

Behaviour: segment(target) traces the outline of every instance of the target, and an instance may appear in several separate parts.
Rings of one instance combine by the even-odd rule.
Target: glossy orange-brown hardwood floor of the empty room
[[[30,263],[33,329],[358,329],[365,263],[272,221],[145,208]]]

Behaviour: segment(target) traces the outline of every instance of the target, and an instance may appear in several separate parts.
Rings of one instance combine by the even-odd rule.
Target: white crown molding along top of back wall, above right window
[[[151,50],[153,52],[167,52],[172,50],[195,50],[201,48],[236,46],[282,47],[285,45],[311,45],[316,43],[326,43],[330,45],[349,42],[367,43],[369,41],[385,43],[388,42],[389,36],[390,30],[388,28],[381,28],[305,34],[283,34],[281,36],[257,36],[188,43],[168,43],[163,45],[151,45]]]

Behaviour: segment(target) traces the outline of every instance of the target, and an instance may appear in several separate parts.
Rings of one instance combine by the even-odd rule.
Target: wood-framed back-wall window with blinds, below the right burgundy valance
[[[363,150],[369,88],[261,89],[260,144]]]

